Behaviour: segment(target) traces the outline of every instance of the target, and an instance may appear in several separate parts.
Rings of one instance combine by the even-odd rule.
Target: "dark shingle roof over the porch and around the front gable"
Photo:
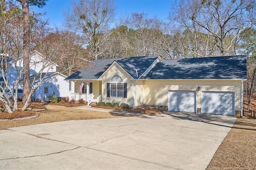
[[[127,73],[134,79],[140,77],[148,67],[158,58],[158,56],[144,56],[144,57],[124,57],[111,59],[97,59],[91,62],[89,67],[84,67],[65,80],[95,80],[104,73],[106,69],[116,61]]]

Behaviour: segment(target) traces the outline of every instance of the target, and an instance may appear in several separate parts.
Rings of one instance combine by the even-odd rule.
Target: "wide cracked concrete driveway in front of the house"
[[[236,118],[168,112],[0,130],[0,169],[204,170]]]

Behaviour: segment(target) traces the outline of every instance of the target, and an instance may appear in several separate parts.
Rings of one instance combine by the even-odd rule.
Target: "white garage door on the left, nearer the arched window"
[[[196,112],[195,91],[168,91],[168,111]]]

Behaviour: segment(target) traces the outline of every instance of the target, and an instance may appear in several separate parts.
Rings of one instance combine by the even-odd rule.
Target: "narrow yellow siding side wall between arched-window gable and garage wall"
[[[140,106],[143,102],[143,81],[134,82],[134,106]]]

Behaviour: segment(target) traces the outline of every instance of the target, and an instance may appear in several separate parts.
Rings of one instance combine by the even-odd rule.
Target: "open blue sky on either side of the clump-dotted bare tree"
[[[116,18],[120,15],[130,15],[132,12],[144,12],[148,17],[157,16],[167,19],[171,5],[175,0],[116,0]],[[43,8],[33,7],[35,12],[46,12],[45,19],[49,19],[50,27],[62,27],[63,12],[71,7],[70,0],[48,0]]]

